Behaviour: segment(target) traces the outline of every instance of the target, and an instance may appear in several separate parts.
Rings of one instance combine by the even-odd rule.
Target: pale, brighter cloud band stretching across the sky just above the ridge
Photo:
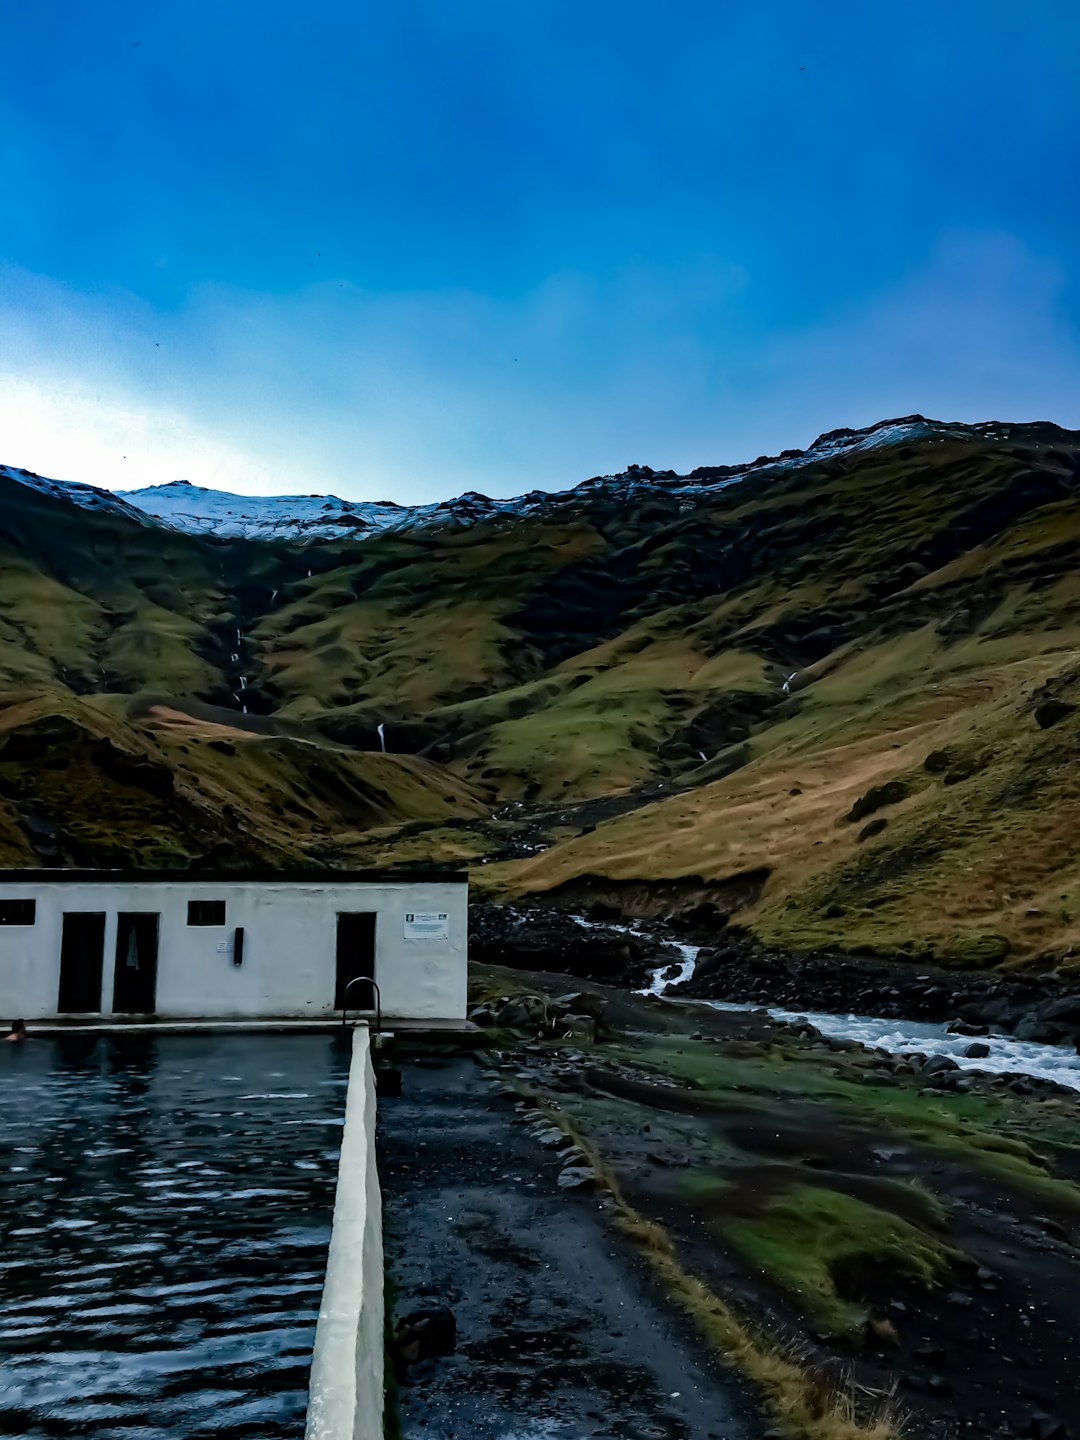
[[[207,285],[168,314],[9,272],[3,458],[111,487],[426,501],[734,462],[913,410],[1080,423],[1064,284],[998,232],[950,232],[805,325],[763,324],[717,255],[517,297]]]

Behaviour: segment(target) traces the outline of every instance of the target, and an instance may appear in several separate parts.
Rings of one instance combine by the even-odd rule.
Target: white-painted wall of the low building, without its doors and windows
[[[102,1008],[112,1008],[117,913],[160,914],[157,1007],[163,1018],[330,1017],[337,916],[374,910],[376,981],[383,1014],[415,1020],[465,1015],[468,893],[461,881],[0,880],[0,899],[33,899],[33,926],[0,924],[0,1020],[56,1015],[65,910],[105,912]],[[189,926],[189,900],[225,900],[223,926]],[[409,912],[449,916],[445,940],[406,937]],[[232,962],[236,927],[243,963]],[[222,949],[223,948],[223,949]],[[369,999],[360,994],[360,1004]]]

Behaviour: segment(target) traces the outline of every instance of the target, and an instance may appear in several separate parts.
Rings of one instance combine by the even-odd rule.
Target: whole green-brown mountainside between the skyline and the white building
[[[927,426],[308,544],[0,480],[0,847],[442,858],[782,946],[1070,965],[1079,474],[1056,426]]]

